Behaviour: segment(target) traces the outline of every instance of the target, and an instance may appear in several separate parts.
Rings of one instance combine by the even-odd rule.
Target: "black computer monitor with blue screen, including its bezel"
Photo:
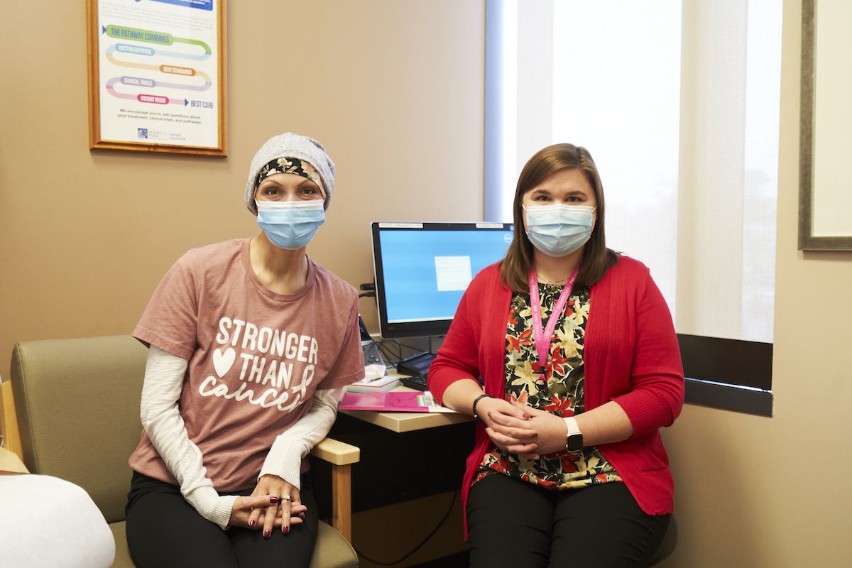
[[[443,336],[470,280],[506,254],[510,223],[372,223],[383,338]]]

